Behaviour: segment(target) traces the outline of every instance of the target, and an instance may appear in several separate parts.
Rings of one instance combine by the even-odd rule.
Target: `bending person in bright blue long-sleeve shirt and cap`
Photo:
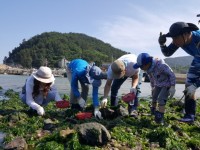
[[[98,89],[101,86],[101,79],[106,79],[107,74],[93,65],[90,65],[83,59],[74,59],[67,64],[67,78],[71,85],[70,103],[72,109],[83,110],[86,104],[89,84],[92,84],[92,100],[95,117],[102,118],[99,111]],[[81,85],[82,92],[78,90],[78,82]]]

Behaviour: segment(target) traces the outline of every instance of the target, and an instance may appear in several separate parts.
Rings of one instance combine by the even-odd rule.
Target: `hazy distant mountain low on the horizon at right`
[[[188,67],[191,64],[193,57],[183,56],[183,57],[165,58],[164,60],[170,67]]]

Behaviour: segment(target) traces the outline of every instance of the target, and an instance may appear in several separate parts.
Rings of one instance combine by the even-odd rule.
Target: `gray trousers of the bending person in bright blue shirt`
[[[67,71],[67,78],[69,80],[69,83],[71,84],[71,80],[72,80],[72,74],[70,69],[66,68]],[[89,85],[88,84],[84,84],[79,82],[81,85],[81,97],[86,101],[87,97],[88,97],[88,92],[89,92]],[[70,89],[70,103],[71,104],[77,104],[78,103],[78,99],[74,96],[73,90]]]

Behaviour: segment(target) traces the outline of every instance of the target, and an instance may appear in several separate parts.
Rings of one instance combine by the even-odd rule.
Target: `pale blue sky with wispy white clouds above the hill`
[[[165,58],[160,31],[176,21],[198,25],[199,6],[200,0],[1,0],[0,63],[23,39],[51,31],[84,33],[136,55]],[[178,56],[187,54],[179,49]]]

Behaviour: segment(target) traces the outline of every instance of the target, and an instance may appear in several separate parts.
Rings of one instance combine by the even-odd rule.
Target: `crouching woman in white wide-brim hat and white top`
[[[51,100],[61,100],[54,81],[52,70],[49,67],[41,66],[37,72],[27,78],[20,94],[22,102],[36,110],[38,115],[43,116],[45,114],[44,106]]]

